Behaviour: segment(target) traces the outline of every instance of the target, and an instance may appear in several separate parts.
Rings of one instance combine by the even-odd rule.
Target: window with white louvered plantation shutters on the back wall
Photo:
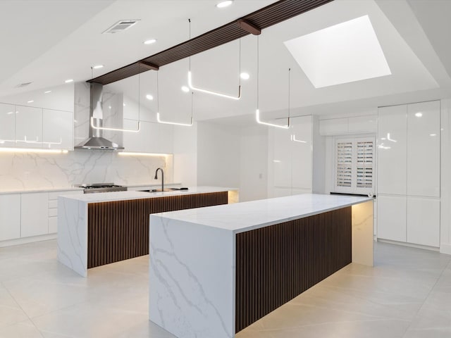
[[[335,192],[373,192],[374,138],[335,140]]]

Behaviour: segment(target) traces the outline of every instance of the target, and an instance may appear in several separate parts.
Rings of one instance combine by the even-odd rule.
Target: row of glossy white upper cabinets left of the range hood
[[[0,146],[73,149],[73,112],[0,104]]]

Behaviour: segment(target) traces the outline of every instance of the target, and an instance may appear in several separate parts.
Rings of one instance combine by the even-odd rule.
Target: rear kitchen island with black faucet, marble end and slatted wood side
[[[236,189],[223,187],[59,196],[58,261],[87,277],[89,268],[149,253],[149,214],[236,200]]]

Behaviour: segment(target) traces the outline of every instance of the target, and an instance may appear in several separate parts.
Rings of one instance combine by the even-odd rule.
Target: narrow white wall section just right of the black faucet
[[[197,123],[192,127],[174,125],[174,182],[197,185]]]

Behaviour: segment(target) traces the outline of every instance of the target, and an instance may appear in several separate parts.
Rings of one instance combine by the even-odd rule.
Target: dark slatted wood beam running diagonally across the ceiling
[[[299,14],[327,4],[330,1],[333,0],[280,0],[234,20],[231,23],[227,23],[198,37],[194,37],[169,49],[131,63],[130,65],[125,65],[122,68],[95,77],[87,82],[109,84],[144,73],[149,69],[158,70],[163,65],[202,53],[202,51],[207,51],[222,44],[227,44],[249,34],[255,34],[258,30],[261,31],[282,21],[294,18]],[[241,27],[240,23],[245,25],[247,29]]]

